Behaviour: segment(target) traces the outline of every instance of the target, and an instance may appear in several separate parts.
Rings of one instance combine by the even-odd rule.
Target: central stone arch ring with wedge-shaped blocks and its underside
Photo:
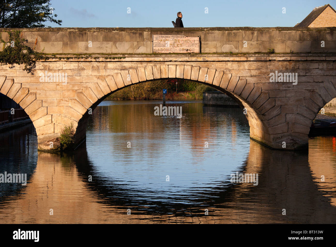
[[[115,71],[111,75],[97,77],[96,82],[91,82],[82,92],[76,92],[76,99],[70,99],[70,105],[76,107],[79,113],[76,114],[76,142],[80,143],[85,138],[89,117],[87,109],[93,110],[108,95],[132,84],[171,78],[203,83],[234,98],[246,110],[251,138],[271,146],[265,113],[274,107],[272,103],[275,100],[269,99],[268,92],[262,92],[254,83],[248,83],[246,78],[224,70],[181,64],[148,65]]]

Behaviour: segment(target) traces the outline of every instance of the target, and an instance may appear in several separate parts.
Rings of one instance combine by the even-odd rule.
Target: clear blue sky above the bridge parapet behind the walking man
[[[62,25],[51,27],[173,27],[176,13],[184,27],[293,27],[314,7],[336,0],[51,0]],[[130,8],[130,14],[127,8]],[[282,13],[283,7],[286,13]],[[208,13],[205,13],[208,8]]]

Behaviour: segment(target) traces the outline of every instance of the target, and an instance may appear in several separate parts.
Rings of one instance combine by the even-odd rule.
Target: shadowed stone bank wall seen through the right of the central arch
[[[220,91],[204,92],[202,103],[211,106],[239,107],[236,100]]]

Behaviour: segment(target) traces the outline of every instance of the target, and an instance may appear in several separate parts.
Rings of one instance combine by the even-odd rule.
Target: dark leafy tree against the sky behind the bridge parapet
[[[50,0],[2,0],[0,1],[1,28],[44,28],[51,22],[61,25],[57,20]]]

